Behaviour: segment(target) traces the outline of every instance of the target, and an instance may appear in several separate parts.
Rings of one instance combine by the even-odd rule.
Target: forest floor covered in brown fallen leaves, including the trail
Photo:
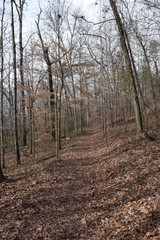
[[[11,164],[0,183],[0,239],[160,239],[156,131],[150,142],[133,123],[106,136],[91,123],[63,144],[58,160],[46,150],[39,161]]]

